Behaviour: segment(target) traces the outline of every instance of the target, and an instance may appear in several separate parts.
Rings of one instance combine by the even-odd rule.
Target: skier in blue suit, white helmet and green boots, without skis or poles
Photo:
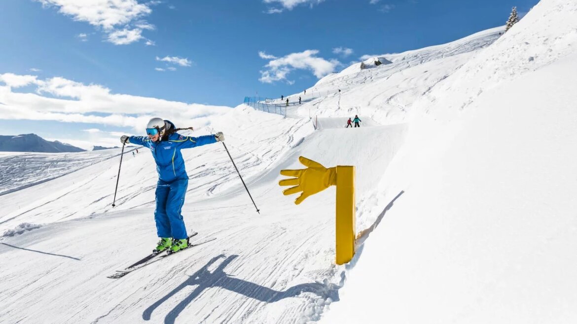
[[[155,125],[164,125],[150,127]],[[170,240],[174,246],[175,240],[186,240],[188,234],[182,219],[182,205],[186,189],[188,187],[188,175],[186,174],[185,163],[182,159],[181,149],[194,148],[206,144],[223,141],[224,135],[219,132],[215,135],[204,135],[200,137],[184,136],[176,133],[174,124],[169,120],[153,118],[147,127],[148,136],[126,136],[121,137],[121,142],[142,145],[149,148],[152,157],[156,162],[156,171],[158,172],[158,183],[156,184],[156,209],[154,219],[156,221],[156,232],[158,237]],[[159,242],[159,244],[161,244]],[[168,244],[168,243],[166,243]],[[184,244],[184,243],[182,243]],[[179,248],[171,250],[178,251]],[[188,246],[188,241],[182,247]],[[162,248],[162,251],[168,246]]]

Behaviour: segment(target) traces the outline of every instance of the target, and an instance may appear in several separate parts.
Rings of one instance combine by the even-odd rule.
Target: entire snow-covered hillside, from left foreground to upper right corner
[[[23,167],[0,178],[0,322],[577,321],[576,17],[543,0],[502,36],[328,76],[288,118],[212,118],[191,134],[226,134],[260,214],[220,143],[183,150],[204,244],[117,280],[156,243],[151,153],[125,152],[114,209],[118,149],[1,155]],[[299,156],[357,168],[347,265],[334,187],[297,206],[278,186]]]

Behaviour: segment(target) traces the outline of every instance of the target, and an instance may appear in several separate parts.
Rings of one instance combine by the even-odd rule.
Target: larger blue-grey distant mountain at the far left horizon
[[[59,141],[50,142],[36,134],[0,135],[0,152],[84,152],[70,144]]]

